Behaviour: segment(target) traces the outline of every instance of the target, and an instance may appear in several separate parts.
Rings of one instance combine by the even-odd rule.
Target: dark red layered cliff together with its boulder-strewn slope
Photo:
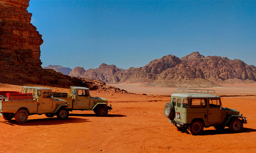
[[[32,14],[27,11],[28,6],[29,0],[0,0],[0,82],[105,89],[104,82],[70,77],[41,67],[42,35],[30,23]]]

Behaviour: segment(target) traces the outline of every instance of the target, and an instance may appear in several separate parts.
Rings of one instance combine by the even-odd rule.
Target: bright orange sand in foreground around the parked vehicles
[[[0,84],[0,90],[19,86]],[[68,90],[55,88],[55,90]],[[241,133],[205,128],[203,135],[182,133],[164,116],[168,96],[91,91],[105,97],[113,110],[107,117],[73,111],[67,120],[32,115],[27,123],[0,118],[0,152],[256,152],[256,96],[223,97],[223,107],[248,117]]]

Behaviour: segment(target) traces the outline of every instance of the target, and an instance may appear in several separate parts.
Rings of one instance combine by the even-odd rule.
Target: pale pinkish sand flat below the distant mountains
[[[160,87],[146,87],[142,86],[142,83],[119,83],[109,84],[116,86],[120,89],[124,89],[131,93],[137,94],[152,94],[152,95],[171,95],[176,88],[160,88]],[[223,87],[212,87],[212,88],[200,88],[215,90],[218,95],[256,95],[256,84],[220,84]]]

